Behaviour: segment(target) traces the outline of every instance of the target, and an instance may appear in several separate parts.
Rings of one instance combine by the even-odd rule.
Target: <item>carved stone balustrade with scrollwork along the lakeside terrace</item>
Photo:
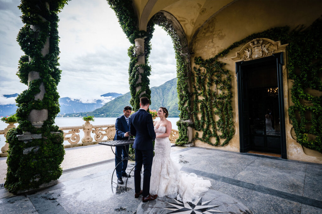
[[[10,127],[9,127],[10,126]],[[10,124],[5,130],[0,130],[0,135],[9,131],[9,129],[14,128],[15,126]],[[115,125],[92,125],[90,122],[85,122],[81,126],[64,126],[59,127],[59,130],[63,131],[64,142],[68,141],[69,144],[64,143],[64,148],[77,147],[77,146],[86,146],[98,144],[103,141],[111,141],[114,139],[115,135]],[[82,132],[81,132],[82,131]],[[82,133],[82,134],[81,134]],[[82,137],[82,138],[81,138]],[[174,143],[179,137],[178,130],[172,129],[169,140]],[[5,146],[1,148],[0,157],[6,157],[8,153],[8,143],[5,143]]]

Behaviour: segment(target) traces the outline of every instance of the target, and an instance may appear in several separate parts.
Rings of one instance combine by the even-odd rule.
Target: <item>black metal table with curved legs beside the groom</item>
[[[134,143],[134,138],[130,138],[130,140],[116,140],[116,141],[106,141],[106,142],[99,142],[100,145],[105,145],[105,146],[110,146],[111,147],[111,150],[112,152],[114,153],[115,155],[115,152],[113,151],[113,147],[115,146],[126,146],[126,145],[129,145],[129,144],[133,144]],[[126,150],[125,150],[126,151]],[[114,170],[113,170],[113,173],[112,173],[112,179],[111,179],[111,184],[117,184],[119,185],[118,183],[115,183],[113,182],[113,175],[114,175],[114,172],[116,170],[116,167],[118,167],[118,165],[120,163],[122,163],[124,160],[133,160],[134,159],[132,158],[134,154],[132,154],[131,156],[128,154],[128,157],[127,158],[122,158],[122,157],[118,157],[117,155],[115,155],[116,157],[118,158],[121,158],[122,160],[115,166]],[[128,176],[131,174],[132,170],[134,169],[134,167],[131,169],[131,171],[128,173]],[[127,184],[128,184],[128,177],[126,178],[126,183],[125,183],[125,191],[126,191],[126,187],[127,187]],[[122,185],[119,185],[119,186],[122,186]],[[122,186],[123,187],[123,186]]]

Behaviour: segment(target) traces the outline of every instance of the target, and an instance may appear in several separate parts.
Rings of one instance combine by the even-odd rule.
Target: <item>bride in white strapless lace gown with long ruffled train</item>
[[[199,194],[211,186],[209,180],[203,180],[196,174],[189,175],[180,171],[181,166],[170,158],[171,144],[169,135],[172,125],[167,120],[168,110],[160,107],[157,116],[160,120],[154,123],[156,140],[154,145],[155,156],[152,162],[150,193],[159,197],[168,196],[179,201],[194,202]]]

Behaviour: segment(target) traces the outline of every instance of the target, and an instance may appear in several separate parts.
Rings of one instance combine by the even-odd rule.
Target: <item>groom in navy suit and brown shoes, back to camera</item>
[[[133,148],[135,149],[134,187],[135,198],[141,194],[142,202],[152,201],[157,195],[150,194],[150,177],[153,160],[153,144],[156,138],[151,114],[147,113],[149,99],[141,97],[140,109],[131,116],[131,134],[135,136]],[[143,190],[141,190],[141,170],[143,172]]]

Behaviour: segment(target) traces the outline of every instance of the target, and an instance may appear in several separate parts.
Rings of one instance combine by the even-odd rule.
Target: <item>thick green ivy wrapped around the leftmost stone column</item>
[[[19,60],[17,75],[24,84],[28,84],[28,74],[31,71],[38,72],[40,79],[30,81],[28,89],[17,97],[16,116],[19,125],[7,134],[9,150],[5,187],[13,193],[38,188],[62,175],[60,164],[65,154],[63,134],[53,124],[59,113],[57,84],[61,78],[61,70],[58,68],[58,13],[66,3],[67,0],[22,0],[19,6],[25,25],[19,31],[17,41],[25,55]],[[31,26],[37,30],[33,31]],[[42,48],[48,37],[49,53],[43,56]],[[42,83],[46,90],[44,98],[35,100],[34,96],[40,92]],[[41,128],[34,127],[28,121],[33,109],[48,109],[48,119]],[[42,138],[19,141],[16,135],[23,133],[42,134]]]

